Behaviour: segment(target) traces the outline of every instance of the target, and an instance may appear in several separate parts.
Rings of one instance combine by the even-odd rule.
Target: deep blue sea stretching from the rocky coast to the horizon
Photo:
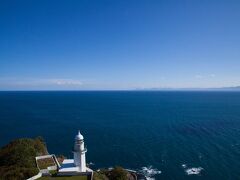
[[[240,179],[240,92],[0,92],[0,146],[42,136],[71,158],[79,129],[93,169]]]

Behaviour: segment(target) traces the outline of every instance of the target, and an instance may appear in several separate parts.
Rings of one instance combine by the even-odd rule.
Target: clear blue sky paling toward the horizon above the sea
[[[0,90],[240,85],[239,0],[0,2]]]

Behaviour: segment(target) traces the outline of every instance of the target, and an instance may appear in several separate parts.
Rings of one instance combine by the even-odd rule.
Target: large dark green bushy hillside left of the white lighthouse
[[[22,180],[38,173],[35,157],[47,154],[41,137],[17,139],[0,149],[0,179]]]

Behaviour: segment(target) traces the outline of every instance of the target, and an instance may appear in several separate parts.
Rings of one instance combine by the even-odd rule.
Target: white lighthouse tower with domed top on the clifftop
[[[86,172],[86,156],[87,149],[84,147],[83,135],[78,131],[75,137],[73,148],[74,164],[79,168],[80,172]]]

